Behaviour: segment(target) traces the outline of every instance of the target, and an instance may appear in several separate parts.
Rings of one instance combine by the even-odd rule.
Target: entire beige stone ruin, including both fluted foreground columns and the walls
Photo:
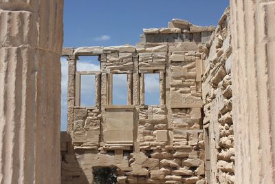
[[[232,0],[217,28],[173,19],[144,29],[136,46],[62,50],[62,12],[62,0],[0,0],[0,183],[97,184],[102,173],[118,183],[275,183],[274,0]],[[81,56],[98,56],[100,71],[76,70]],[[113,104],[117,74],[127,76],[124,105]],[[158,105],[146,104],[147,74],[158,76]],[[80,103],[83,75],[94,76],[91,107]]]

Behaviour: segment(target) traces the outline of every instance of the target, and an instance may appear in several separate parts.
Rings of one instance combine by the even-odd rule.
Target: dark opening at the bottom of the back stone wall
[[[94,167],[94,184],[117,183],[116,167]]]

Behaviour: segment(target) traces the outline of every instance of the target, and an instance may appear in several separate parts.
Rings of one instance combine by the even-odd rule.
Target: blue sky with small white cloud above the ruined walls
[[[166,28],[168,21],[175,18],[196,25],[217,25],[227,6],[229,0],[65,0],[63,45],[75,48],[135,45],[143,28]],[[61,61],[61,130],[64,131],[67,126],[67,61],[64,58]],[[87,65],[89,61],[83,59],[80,68],[89,68]],[[96,66],[90,68],[93,67]]]

